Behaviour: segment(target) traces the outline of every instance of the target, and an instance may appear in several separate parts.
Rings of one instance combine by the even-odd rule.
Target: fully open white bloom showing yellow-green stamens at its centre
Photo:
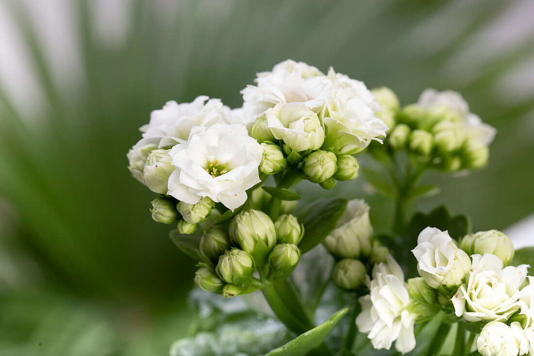
[[[176,171],[167,194],[189,204],[209,197],[234,210],[247,200],[246,190],[261,182],[262,151],[241,124],[195,127],[186,143],[169,152]]]

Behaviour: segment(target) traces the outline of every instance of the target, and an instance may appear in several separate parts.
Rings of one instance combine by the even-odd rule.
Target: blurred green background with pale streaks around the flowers
[[[152,221],[125,154],[167,100],[241,106],[287,58],[403,104],[460,91],[498,129],[490,165],[430,174],[443,192],[420,208],[446,203],[475,230],[532,214],[532,16],[529,0],[0,1],[0,354],[164,355],[187,335],[194,263]],[[363,178],[334,192],[389,226]]]

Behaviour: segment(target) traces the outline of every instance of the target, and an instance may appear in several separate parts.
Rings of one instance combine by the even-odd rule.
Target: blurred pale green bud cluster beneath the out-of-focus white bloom
[[[382,96],[382,100],[389,100],[390,103],[387,114],[383,114],[387,117],[382,119],[387,120],[391,115],[394,117],[389,121],[394,125],[390,126],[383,149],[393,152],[404,150],[418,164],[442,172],[475,170],[486,165],[492,137],[481,138],[475,131],[491,132],[492,128],[464,109],[462,103],[465,102],[461,97],[455,99],[462,100],[462,103],[457,105],[437,102],[399,108],[398,99],[391,99],[394,94],[380,94],[382,91],[387,92],[384,88],[373,90],[377,98]],[[474,120],[476,123],[473,123]]]

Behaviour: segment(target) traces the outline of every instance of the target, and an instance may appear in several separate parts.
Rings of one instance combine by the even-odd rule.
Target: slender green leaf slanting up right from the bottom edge
[[[315,349],[317,346],[323,343],[330,331],[332,331],[334,326],[343,318],[343,316],[345,316],[345,314],[347,314],[348,311],[348,307],[341,309],[318,327],[304,332],[304,334],[297,336],[284,346],[272,350],[265,356],[305,355],[307,352]]]

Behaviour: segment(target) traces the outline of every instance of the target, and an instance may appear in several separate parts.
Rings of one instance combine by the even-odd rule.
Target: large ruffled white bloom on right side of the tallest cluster
[[[371,92],[367,88],[359,91],[370,95],[371,99],[363,95],[370,101],[348,89],[331,91],[322,115],[326,131],[324,149],[333,148],[336,154],[354,154],[366,148],[371,140],[382,142],[379,137],[386,136],[388,127],[375,116]]]

